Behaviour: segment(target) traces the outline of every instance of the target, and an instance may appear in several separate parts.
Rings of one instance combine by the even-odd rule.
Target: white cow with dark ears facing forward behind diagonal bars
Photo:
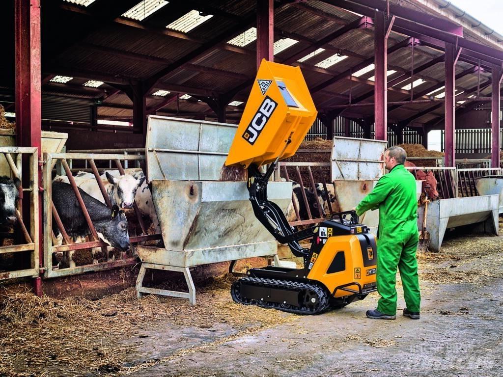
[[[98,199],[100,202],[105,203],[105,199],[100,191],[100,186],[96,181],[96,177],[92,173],[78,172],[78,174],[73,177],[77,187],[80,187],[83,191],[91,195],[93,198]],[[101,177],[105,190],[107,192],[110,203],[117,205],[120,208],[132,208],[134,198],[138,187],[140,187],[144,181],[145,177],[142,179],[136,179],[130,174],[114,176],[112,174],[106,173]],[[56,182],[70,183],[66,175],[58,175],[54,178]]]

